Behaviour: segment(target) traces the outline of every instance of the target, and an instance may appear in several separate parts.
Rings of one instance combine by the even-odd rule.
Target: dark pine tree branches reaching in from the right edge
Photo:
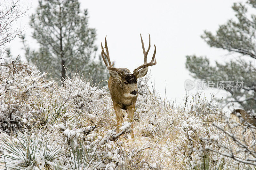
[[[246,4],[234,3],[232,9],[235,11],[236,20],[228,20],[226,24],[220,25],[216,34],[204,31],[201,36],[210,47],[228,50],[229,53],[239,54],[239,59],[211,66],[205,57],[188,55],[186,68],[192,76],[205,82],[244,82],[243,87],[225,88],[228,97],[221,100],[224,105],[239,104],[244,110],[256,113],[256,74],[255,65],[246,60],[246,56],[256,59],[256,15],[248,15],[248,7],[256,9],[256,1],[249,0]],[[217,88],[217,84],[214,85]]]

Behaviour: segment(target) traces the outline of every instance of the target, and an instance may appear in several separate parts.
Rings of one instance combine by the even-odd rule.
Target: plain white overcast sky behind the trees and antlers
[[[29,16],[35,13],[37,0],[23,0],[24,4],[31,6]],[[231,6],[235,0],[148,0],[148,1],[82,1],[81,9],[88,8],[89,26],[96,28],[97,41],[100,42],[107,35],[108,49],[111,61],[115,60],[116,67],[125,67],[133,71],[143,63],[143,53],[140,42],[140,33],[148,45],[148,33],[151,35],[151,50],[148,61],[151,60],[154,44],[156,45],[157,64],[152,66],[152,82],[156,90],[164,97],[165,81],[167,83],[166,95],[169,100],[182,103],[186,94],[184,81],[192,79],[185,68],[186,55],[196,54],[210,58],[211,62],[228,61],[227,51],[210,48],[200,35],[204,30],[218,29],[220,24],[234,18]],[[243,0],[242,2],[245,2]],[[32,29],[29,27],[29,16],[22,19],[25,25],[27,44],[37,48],[36,41],[31,38]],[[11,53],[24,57],[20,39],[10,43]],[[97,52],[99,55],[100,50]],[[193,79],[192,79],[193,80]],[[194,92],[194,91],[192,91]],[[211,91],[205,91],[207,97]],[[222,94],[218,94],[221,96]]]

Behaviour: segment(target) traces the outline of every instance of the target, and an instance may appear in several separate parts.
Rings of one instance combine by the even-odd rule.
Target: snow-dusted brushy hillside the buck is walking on
[[[106,87],[76,75],[60,87],[46,74],[25,63],[0,66],[2,169],[253,169],[256,163],[255,127],[227,119],[213,99],[195,94],[176,106],[141,78],[132,140],[127,116],[116,132]]]

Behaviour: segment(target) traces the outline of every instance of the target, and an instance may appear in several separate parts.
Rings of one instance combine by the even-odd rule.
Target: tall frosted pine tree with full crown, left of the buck
[[[99,83],[107,78],[101,60],[95,61],[96,30],[88,26],[88,12],[81,12],[78,0],[42,0],[30,22],[33,38],[39,51],[27,49],[27,59],[36,63],[40,71],[52,72],[52,77],[64,80],[78,72]],[[97,70],[100,78],[92,76]]]

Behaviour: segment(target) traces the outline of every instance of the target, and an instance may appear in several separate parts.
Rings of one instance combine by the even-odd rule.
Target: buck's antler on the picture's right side
[[[137,74],[137,72],[142,69],[142,68],[145,68],[145,67],[149,67],[149,66],[152,66],[152,65],[156,65],[156,59],[155,59],[155,55],[156,55],[156,46],[155,46],[155,51],[154,51],[154,54],[153,54],[153,57],[152,57],[152,60],[150,63],[147,63],[147,56],[148,56],[148,51],[150,49],[150,34],[149,35],[149,45],[148,45],[148,50],[145,51],[145,47],[144,47],[144,42],[142,40],[142,37],[141,37],[141,34],[140,34],[140,39],[141,39],[141,44],[142,44],[142,50],[143,50],[143,55],[144,55],[144,64],[142,64],[141,66],[139,66],[137,69],[134,69],[133,70],[133,74]],[[154,62],[155,60],[155,62]]]

